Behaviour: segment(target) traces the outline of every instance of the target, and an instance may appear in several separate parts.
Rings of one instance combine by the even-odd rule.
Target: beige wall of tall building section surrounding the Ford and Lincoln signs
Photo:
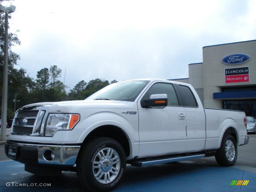
[[[222,63],[223,57],[235,53],[247,54],[250,56],[250,60],[240,65]],[[250,82],[225,84],[225,68],[247,66],[249,66]],[[256,41],[204,47],[202,69],[205,107],[222,108],[222,100],[213,99],[213,93],[221,92],[221,87],[256,84]]]

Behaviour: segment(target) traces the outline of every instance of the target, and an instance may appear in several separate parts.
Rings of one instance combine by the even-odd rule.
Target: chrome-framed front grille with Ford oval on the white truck
[[[20,111],[16,114],[12,134],[40,135],[45,110]],[[19,121],[20,120],[20,121]]]

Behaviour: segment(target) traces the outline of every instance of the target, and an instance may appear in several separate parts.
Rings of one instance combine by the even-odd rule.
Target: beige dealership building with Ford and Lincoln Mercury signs
[[[188,65],[204,107],[244,111],[256,117],[256,40],[205,46],[203,62]]]

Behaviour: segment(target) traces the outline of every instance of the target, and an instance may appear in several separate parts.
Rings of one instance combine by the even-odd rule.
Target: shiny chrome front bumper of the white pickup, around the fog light
[[[68,145],[41,145],[41,144],[27,144],[27,143],[15,143],[6,142],[7,145],[17,147],[36,148],[38,151],[38,163],[49,165],[74,165],[76,163],[77,155],[80,150],[80,146],[68,146]],[[54,153],[54,159],[51,161],[46,160],[45,152],[51,151]]]

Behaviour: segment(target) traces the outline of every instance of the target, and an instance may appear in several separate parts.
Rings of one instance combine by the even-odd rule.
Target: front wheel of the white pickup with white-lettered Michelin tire
[[[77,176],[82,186],[91,191],[110,191],[117,187],[126,167],[123,147],[112,138],[99,137],[89,141],[81,150]]]

